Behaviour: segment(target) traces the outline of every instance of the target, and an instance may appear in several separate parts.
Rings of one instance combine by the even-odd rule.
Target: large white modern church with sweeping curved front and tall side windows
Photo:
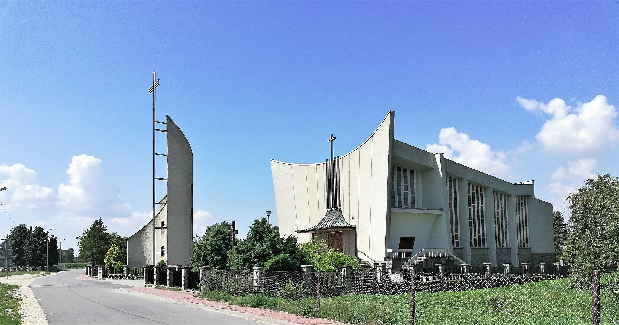
[[[356,149],[322,163],[271,160],[280,235],[396,268],[428,257],[493,266],[555,261],[552,204],[394,139],[395,113]],[[400,267],[397,265],[397,267]]]

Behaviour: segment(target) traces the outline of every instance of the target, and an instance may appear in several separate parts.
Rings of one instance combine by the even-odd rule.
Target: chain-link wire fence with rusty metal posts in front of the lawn
[[[353,324],[619,323],[619,274],[556,270],[463,274],[350,267],[331,272],[208,269],[202,273],[200,294]]]

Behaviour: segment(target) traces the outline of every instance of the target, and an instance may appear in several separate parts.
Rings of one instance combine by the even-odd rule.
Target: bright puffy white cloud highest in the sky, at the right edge
[[[617,108],[604,95],[572,108],[561,98],[548,104],[521,97],[517,102],[528,111],[543,111],[552,119],[543,124],[535,136],[544,149],[555,152],[594,152],[619,141],[619,128],[613,123]]]

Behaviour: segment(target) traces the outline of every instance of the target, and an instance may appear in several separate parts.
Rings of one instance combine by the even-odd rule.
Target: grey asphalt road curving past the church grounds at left
[[[126,285],[82,280],[84,270],[63,271],[30,284],[53,324],[267,324],[181,301],[118,290]]]

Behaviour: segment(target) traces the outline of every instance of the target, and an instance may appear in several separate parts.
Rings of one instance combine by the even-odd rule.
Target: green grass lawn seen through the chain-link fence
[[[602,324],[619,321],[619,290],[612,290],[602,288]],[[318,310],[314,298],[294,301],[264,293],[237,297],[220,291],[202,297],[345,323],[409,324],[410,293],[322,298]],[[591,291],[573,288],[569,279],[463,292],[418,292],[415,302],[415,324],[591,324]],[[618,306],[615,313],[613,303]]]

